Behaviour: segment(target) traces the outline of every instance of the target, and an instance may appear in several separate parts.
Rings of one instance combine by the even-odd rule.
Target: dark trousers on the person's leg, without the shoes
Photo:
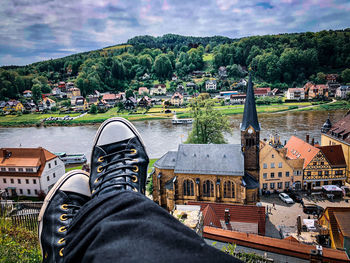
[[[209,246],[145,196],[94,198],[73,219],[65,262],[240,262]]]

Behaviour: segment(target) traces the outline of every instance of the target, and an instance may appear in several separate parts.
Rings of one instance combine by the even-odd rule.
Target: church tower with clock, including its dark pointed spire
[[[241,146],[244,154],[244,170],[257,181],[259,180],[259,142],[260,124],[256,112],[252,78],[251,74],[249,74],[247,96],[241,123]]]

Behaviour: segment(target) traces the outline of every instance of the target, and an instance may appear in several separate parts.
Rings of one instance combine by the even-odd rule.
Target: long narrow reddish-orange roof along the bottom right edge
[[[316,250],[316,246],[297,243],[289,239],[277,239],[208,226],[203,229],[203,237],[306,260],[310,260],[311,250]],[[350,262],[345,251],[323,248],[322,252],[324,262]]]

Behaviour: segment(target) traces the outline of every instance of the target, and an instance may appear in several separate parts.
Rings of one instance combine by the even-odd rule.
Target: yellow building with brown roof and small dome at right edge
[[[350,183],[350,112],[334,125],[329,118],[321,129],[321,145],[341,145],[347,165],[347,182]]]

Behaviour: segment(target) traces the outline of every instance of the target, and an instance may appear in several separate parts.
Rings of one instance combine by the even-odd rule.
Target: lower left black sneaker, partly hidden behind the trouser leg
[[[82,170],[66,173],[49,191],[38,218],[43,262],[63,261],[69,225],[90,199],[89,174]]]

